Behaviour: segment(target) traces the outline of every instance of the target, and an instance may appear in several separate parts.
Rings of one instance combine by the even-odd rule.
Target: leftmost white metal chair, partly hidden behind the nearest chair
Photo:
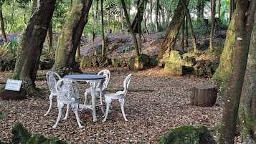
[[[49,111],[52,109],[52,97],[56,96],[57,97],[57,92],[56,92],[56,83],[58,80],[60,80],[61,77],[57,72],[52,72],[49,71],[46,74],[46,80],[47,80],[47,85],[49,87],[49,91],[51,92],[49,95],[49,108],[47,112],[44,114],[44,116],[48,115]]]

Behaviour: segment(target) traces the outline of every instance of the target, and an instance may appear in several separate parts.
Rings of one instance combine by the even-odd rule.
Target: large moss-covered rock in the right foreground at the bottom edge
[[[216,144],[205,126],[187,125],[170,130],[163,135],[159,144]]]

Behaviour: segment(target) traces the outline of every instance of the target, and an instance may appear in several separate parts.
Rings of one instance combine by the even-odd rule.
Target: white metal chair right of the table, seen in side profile
[[[119,100],[123,118],[125,119],[125,121],[128,121],[125,116],[124,104],[125,104],[125,95],[128,92],[128,86],[130,84],[130,81],[131,81],[131,74],[129,74],[123,81],[123,91],[118,91],[115,93],[107,93],[104,95],[105,102],[106,102],[106,110],[105,110],[105,115],[103,116],[104,117],[103,122],[105,122],[107,120],[110,102],[115,99]]]

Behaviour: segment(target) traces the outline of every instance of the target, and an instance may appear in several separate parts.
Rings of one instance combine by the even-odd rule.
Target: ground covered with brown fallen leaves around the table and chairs
[[[158,143],[162,135],[172,128],[182,125],[205,125],[213,128],[222,118],[223,100],[217,98],[213,107],[190,105],[191,87],[209,79],[194,75],[171,76],[162,68],[149,68],[131,72],[127,67],[108,67],[111,72],[108,91],[120,90],[125,77],[132,73],[129,91],[125,101],[128,122],[123,120],[118,101],[110,105],[110,113],[105,123],[103,114],[97,108],[97,122],[93,122],[91,110],[79,111],[84,128],[79,128],[75,115],[70,112],[67,120],[60,120],[57,128],[52,128],[57,120],[57,104],[54,98],[49,115],[44,113],[49,107],[49,90],[45,80],[37,80],[37,87],[44,90],[42,98],[27,97],[25,100],[0,100],[4,103],[0,110],[6,110],[0,119],[0,141],[11,143],[11,129],[22,123],[32,135],[41,133],[49,138],[57,136],[67,143]],[[95,74],[100,68],[82,69],[84,73]],[[38,75],[44,75],[39,71]],[[11,72],[0,72],[0,86],[6,82]],[[86,84],[81,84],[81,101]],[[65,108],[63,110],[65,114]],[[64,117],[64,114],[62,117]],[[217,133],[212,132],[214,138]]]

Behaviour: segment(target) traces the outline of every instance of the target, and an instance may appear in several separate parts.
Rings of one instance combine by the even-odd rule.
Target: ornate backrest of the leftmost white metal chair
[[[57,72],[49,71],[46,73],[47,85],[51,92],[56,92],[55,86],[57,81],[60,79],[61,77],[59,74],[57,74]]]

